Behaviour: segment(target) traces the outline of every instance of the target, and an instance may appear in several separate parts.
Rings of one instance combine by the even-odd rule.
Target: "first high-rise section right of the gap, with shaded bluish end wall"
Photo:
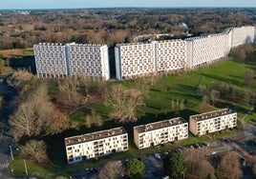
[[[131,79],[156,71],[155,42],[117,44],[117,79]]]

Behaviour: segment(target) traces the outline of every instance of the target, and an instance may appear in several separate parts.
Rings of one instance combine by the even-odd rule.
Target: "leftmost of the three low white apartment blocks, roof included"
[[[65,138],[69,164],[128,149],[128,134],[123,128],[106,129]]]

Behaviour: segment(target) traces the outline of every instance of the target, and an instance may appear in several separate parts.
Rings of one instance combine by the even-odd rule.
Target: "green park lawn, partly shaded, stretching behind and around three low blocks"
[[[48,146],[47,154],[50,163],[39,167],[32,161],[28,161],[29,174],[60,173],[60,175],[68,176],[72,171],[84,169],[85,166],[100,166],[111,160],[125,160],[212,140],[208,136],[195,137],[190,133],[188,139],[179,143],[166,144],[160,148],[138,149],[133,142],[133,127],[175,117],[182,117],[188,122],[190,115],[224,108],[234,109],[238,112],[239,117],[243,117],[251,108],[254,108],[255,65],[256,62],[253,60],[241,62],[230,58],[199,70],[163,74],[138,80],[108,82],[108,87],[120,85],[125,89],[141,91],[144,105],[139,107],[138,120],[120,123],[113,119],[110,115],[113,108],[106,105],[104,98],[89,98],[83,107],[72,112],[66,109],[65,112],[69,113],[69,127],[61,132],[40,137]],[[55,82],[50,84],[50,87],[50,95],[51,93],[52,96],[56,95],[58,91],[55,89]],[[100,125],[94,123],[88,125],[86,116],[92,115],[92,111],[102,120]],[[253,110],[246,120],[249,122],[255,117],[256,113]],[[238,125],[241,126],[241,123],[238,122]],[[75,165],[67,164],[64,138],[120,126],[128,132],[128,151]],[[231,132],[227,130],[214,138],[240,131],[240,128]],[[14,175],[25,176],[24,167],[21,166],[23,166],[23,158],[18,155],[12,163]],[[57,174],[53,176],[57,176]]]

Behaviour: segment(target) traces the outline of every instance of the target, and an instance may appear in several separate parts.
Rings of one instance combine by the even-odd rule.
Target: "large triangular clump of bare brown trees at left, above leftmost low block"
[[[10,117],[12,133],[16,140],[23,136],[59,132],[65,129],[65,124],[66,116],[54,108],[44,83],[34,89]]]

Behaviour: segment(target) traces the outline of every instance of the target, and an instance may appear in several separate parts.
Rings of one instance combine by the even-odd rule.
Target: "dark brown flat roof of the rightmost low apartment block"
[[[223,116],[223,115],[230,114],[230,113],[235,113],[235,112],[231,109],[219,109],[219,110],[214,110],[214,111],[210,111],[210,112],[205,112],[202,114],[192,115],[189,118],[194,119],[196,121],[203,121],[206,119]]]

